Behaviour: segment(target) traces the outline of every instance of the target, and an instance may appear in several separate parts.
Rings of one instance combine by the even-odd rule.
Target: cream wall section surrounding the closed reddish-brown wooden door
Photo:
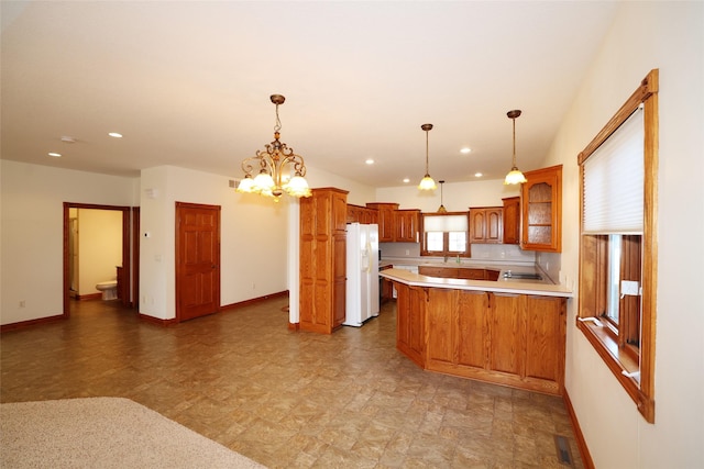
[[[176,202],[221,206],[221,305],[288,289],[288,200],[238,193],[229,186],[231,179],[173,166],[142,171],[142,314],[176,316]],[[144,237],[146,232],[150,237]]]

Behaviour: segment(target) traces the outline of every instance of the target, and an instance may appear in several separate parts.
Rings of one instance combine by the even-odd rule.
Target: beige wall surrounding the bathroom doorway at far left
[[[0,323],[59,315],[63,203],[133,205],[136,179],[3,159],[0,181]]]

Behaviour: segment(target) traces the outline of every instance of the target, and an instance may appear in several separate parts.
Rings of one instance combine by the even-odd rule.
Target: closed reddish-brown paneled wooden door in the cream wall
[[[176,320],[220,310],[220,206],[176,202]]]

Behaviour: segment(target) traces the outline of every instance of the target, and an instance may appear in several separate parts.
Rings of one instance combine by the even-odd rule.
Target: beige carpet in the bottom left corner
[[[263,468],[129,399],[0,404],[2,468]]]

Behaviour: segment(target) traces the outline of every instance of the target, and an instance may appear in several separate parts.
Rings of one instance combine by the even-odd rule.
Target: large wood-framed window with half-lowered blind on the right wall
[[[654,423],[658,70],[578,158],[580,294],[576,326]]]

